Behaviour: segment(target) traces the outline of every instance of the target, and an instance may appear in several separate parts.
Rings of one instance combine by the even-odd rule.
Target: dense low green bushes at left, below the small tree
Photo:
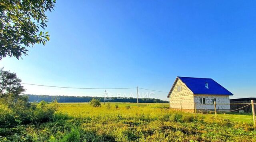
[[[34,130],[31,130],[33,133],[27,133],[30,129],[34,129],[36,125],[61,120],[60,118],[63,118],[63,116],[56,117],[57,109],[57,102],[46,104],[42,101],[36,106],[31,105],[28,108],[20,109],[0,104],[0,136],[4,136],[3,138],[0,137],[0,141],[38,141],[39,138]],[[32,126],[32,128],[29,126]],[[54,138],[51,140],[54,140]]]

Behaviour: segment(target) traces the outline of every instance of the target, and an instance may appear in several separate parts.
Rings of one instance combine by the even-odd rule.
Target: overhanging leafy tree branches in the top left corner
[[[0,60],[28,55],[27,47],[50,40],[46,11],[54,10],[56,0],[0,0]],[[42,28],[42,29],[41,29]]]

